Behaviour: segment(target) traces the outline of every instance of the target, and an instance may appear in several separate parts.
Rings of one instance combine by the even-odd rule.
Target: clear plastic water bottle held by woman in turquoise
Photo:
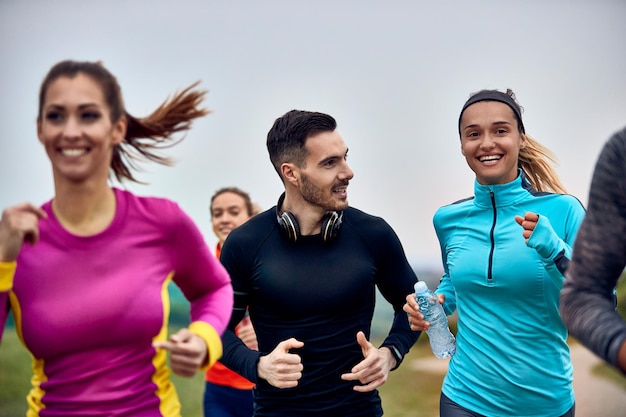
[[[424,281],[415,284],[415,296],[424,315],[424,320],[430,323],[426,330],[430,340],[430,348],[438,358],[449,358],[456,352],[456,340],[448,327],[448,318],[439,304],[437,295],[428,289]]]

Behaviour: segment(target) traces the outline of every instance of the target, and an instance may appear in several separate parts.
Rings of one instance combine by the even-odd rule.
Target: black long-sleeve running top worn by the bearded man
[[[383,219],[348,208],[331,242],[314,235],[294,243],[281,234],[272,208],[231,232],[220,260],[235,291],[222,362],[257,382],[255,416],[382,415],[377,391],[356,392],[358,381],[340,376],[363,360],[356,334],[362,330],[370,337],[376,287],[395,312],[382,345],[404,356],[419,336],[402,311],[417,277]],[[249,350],[232,332],[246,307],[259,352]],[[304,342],[292,352],[304,366],[298,386],[278,389],[258,380],[259,355],[291,337]]]

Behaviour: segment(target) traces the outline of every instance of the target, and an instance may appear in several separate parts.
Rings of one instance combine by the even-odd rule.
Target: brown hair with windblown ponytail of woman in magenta
[[[209,114],[207,109],[200,107],[207,91],[196,89],[198,81],[166,99],[149,116],[134,117],[124,108],[122,90],[117,79],[101,62],[67,60],[55,64],[41,83],[37,114],[39,122],[42,120],[43,105],[50,84],[58,78],[74,78],[78,74],[84,74],[100,85],[113,123],[121,117],[126,117],[126,136],[119,145],[113,148],[111,159],[111,171],[119,182],[123,180],[141,182],[132,173],[132,170],[137,169],[137,161],[172,165],[172,159],[159,155],[158,151],[183,140],[184,135],[180,138],[174,138],[173,135],[186,132],[191,128],[194,119]]]

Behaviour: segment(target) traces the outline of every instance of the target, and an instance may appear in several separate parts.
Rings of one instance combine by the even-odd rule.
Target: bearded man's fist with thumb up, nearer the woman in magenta
[[[291,349],[298,349],[304,343],[294,339],[280,342],[267,356],[261,356],[257,365],[259,378],[263,378],[276,388],[293,388],[302,378],[302,359]]]

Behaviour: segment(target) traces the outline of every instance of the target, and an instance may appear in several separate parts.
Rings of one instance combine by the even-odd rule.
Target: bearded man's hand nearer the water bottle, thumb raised
[[[359,392],[373,391],[387,382],[389,371],[396,366],[396,359],[387,347],[377,349],[365,338],[365,333],[358,332],[356,340],[363,359],[356,364],[350,373],[341,375],[344,381],[360,381],[363,385],[355,385],[354,390]]]

